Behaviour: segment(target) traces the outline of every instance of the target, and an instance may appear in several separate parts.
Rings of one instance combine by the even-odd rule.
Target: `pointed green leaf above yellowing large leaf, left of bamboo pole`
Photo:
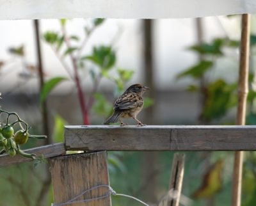
[[[212,65],[212,61],[200,61],[197,65],[190,67],[186,71],[177,75],[177,78],[179,79],[180,77],[191,76],[195,79],[199,79],[207,70],[209,70],[209,68],[212,67]]]

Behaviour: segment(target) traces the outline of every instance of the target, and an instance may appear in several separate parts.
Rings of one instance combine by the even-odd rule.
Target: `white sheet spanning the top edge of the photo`
[[[255,0],[0,0],[0,19],[167,19],[256,13]]]

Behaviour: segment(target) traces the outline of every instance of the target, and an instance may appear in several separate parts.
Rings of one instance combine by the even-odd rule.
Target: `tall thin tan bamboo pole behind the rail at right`
[[[250,52],[250,14],[242,15],[242,32],[240,47],[239,84],[238,84],[238,106],[237,124],[245,125],[246,99],[248,95],[248,73]],[[235,152],[232,206],[241,205],[241,185],[243,174],[243,152]]]

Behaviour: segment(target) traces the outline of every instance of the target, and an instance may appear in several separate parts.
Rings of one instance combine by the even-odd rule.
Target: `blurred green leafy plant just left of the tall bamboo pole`
[[[196,44],[189,47],[189,50],[202,58],[195,65],[177,75],[177,79],[184,77],[195,79],[197,84],[189,85],[188,91],[199,91],[203,96],[204,103],[199,119],[204,123],[220,119],[236,106],[237,83],[228,83],[222,78],[214,79],[211,76],[211,71],[214,70],[216,61],[225,56],[224,49],[237,49],[238,46],[239,42],[235,40],[215,38],[209,44]]]

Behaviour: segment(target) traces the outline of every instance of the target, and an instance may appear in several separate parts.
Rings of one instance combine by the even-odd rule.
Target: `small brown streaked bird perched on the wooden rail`
[[[137,119],[138,113],[140,113],[143,107],[142,95],[145,91],[149,90],[147,86],[142,84],[132,84],[125,90],[125,92],[116,99],[114,103],[114,113],[105,122],[105,125],[109,123],[120,122],[120,126],[127,125],[122,122],[122,118],[133,118],[137,122],[137,126],[144,126],[140,120]]]

